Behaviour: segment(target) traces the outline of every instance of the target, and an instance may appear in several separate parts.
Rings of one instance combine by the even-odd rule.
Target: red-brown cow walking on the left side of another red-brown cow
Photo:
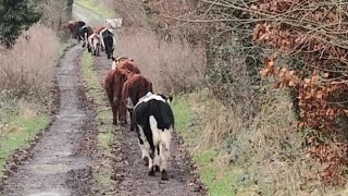
[[[121,100],[123,85],[126,79],[125,71],[120,69],[109,71],[104,77],[103,88],[111,105],[114,125],[117,124],[117,118],[119,121],[127,123],[126,107],[124,101]]]

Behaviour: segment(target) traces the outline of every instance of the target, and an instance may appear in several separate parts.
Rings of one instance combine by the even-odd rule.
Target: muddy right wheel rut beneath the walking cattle
[[[100,83],[111,69],[111,62],[105,58],[105,53],[96,57],[95,69],[98,71]],[[112,115],[111,110],[110,115]],[[148,176],[147,167],[141,160],[136,133],[128,130],[128,125],[115,126],[116,140],[113,145],[113,155],[116,158],[114,159],[113,180],[117,183],[115,191],[109,193],[110,195],[207,195],[202,184],[194,172],[190,172],[192,170],[189,159],[176,136],[172,142],[172,157],[169,164],[170,180],[161,181],[159,172],[156,173],[156,176]]]

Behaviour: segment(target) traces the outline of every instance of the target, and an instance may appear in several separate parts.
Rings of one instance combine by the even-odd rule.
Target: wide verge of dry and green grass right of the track
[[[249,126],[237,110],[214,99],[209,90],[172,102],[177,133],[209,194],[323,194],[316,177],[320,168],[303,154],[286,94],[273,91],[262,98],[265,103]]]

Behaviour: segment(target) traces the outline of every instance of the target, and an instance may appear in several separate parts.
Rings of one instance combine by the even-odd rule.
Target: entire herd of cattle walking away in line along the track
[[[136,131],[141,158],[149,168],[148,174],[153,176],[161,172],[161,180],[169,180],[167,160],[174,115],[170,107],[172,96],[154,94],[151,81],[144,76],[128,57],[113,57],[115,38],[104,26],[92,29],[82,21],[71,21],[64,25],[73,37],[87,46],[88,51],[99,54],[104,50],[108,59],[112,59],[111,70],[104,78],[103,88],[111,103],[113,124],[117,121],[127,124],[127,111],[130,117],[130,131]]]

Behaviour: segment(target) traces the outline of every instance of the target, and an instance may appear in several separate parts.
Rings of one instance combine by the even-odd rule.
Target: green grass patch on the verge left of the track
[[[5,108],[3,105],[8,102],[2,102],[0,109],[0,177],[7,159],[16,149],[28,147],[29,142],[50,123],[49,115],[30,112],[34,108],[30,103],[22,105],[21,109],[15,106],[16,101],[13,103]]]

